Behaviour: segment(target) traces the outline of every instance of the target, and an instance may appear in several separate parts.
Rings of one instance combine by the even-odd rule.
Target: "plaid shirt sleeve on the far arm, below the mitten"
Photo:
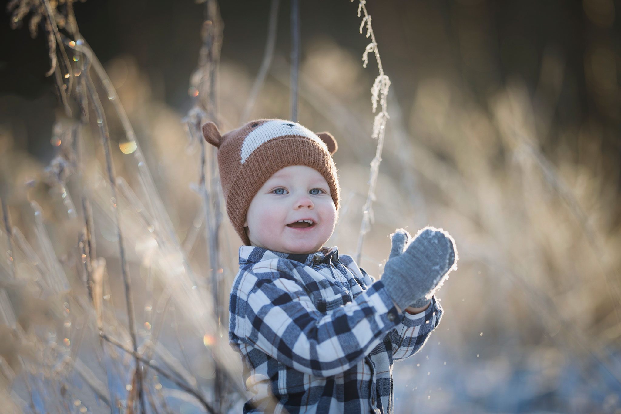
[[[401,323],[388,333],[393,345],[392,359],[404,359],[417,353],[440,323],[442,312],[442,306],[435,296],[424,312],[415,315],[404,312],[400,317]]]

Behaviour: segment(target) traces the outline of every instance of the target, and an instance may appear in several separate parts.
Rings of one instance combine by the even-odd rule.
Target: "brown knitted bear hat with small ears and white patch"
[[[250,240],[243,228],[250,202],[261,186],[281,168],[305,165],[319,171],[330,187],[338,209],[337,168],[332,154],[337,142],[328,132],[315,134],[296,122],[282,119],[250,121],[220,135],[213,122],[202,126],[207,142],[218,148],[218,165],[227,214],[245,245]]]

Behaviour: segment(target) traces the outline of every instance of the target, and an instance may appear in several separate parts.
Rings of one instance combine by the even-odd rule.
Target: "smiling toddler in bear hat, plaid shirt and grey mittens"
[[[244,244],[229,305],[229,341],[253,394],[243,412],[392,413],[392,364],[438,326],[433,292],[456,268],[455,241],[399,229],[375,281],[324,246],[339,204],[332,135],[279,119],[202,131]]]

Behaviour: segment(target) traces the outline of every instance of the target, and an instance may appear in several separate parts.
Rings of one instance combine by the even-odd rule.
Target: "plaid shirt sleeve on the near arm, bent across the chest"
[[[295,270],[280,266],[288,264],[262,261],[240,275],[234,334],[288,367],[319,377],[347,371],[399,325],[401,315],[379,281],[324,315],[289,274]]]

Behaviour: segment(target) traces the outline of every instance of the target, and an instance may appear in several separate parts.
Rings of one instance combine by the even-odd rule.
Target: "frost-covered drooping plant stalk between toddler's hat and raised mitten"
[[[353,0],[350,0],[353,2]],[[371,172],[369,174],[369,191],[366,195],[366,202],[362,209],[362,223],[360,224],[360,233],[358,235],[358,246],[356,248],[356,262],[360,263],[360,256],[362,254],[362,243],[365,240],[365,234],[371,229],[371,224],[374,222],[373,218],[373,202],[375,200],[375,186],[378,182],[379,163],[382,161],[382,150],[384,148],[384,133],[386,132],[386,121],[388,120],[388,110],[386,108],[388,96],[388,90],[390,88],[390,79],[384,74],[384,68],[382,61],[379,58],[378,42],[375,40],[375,34],[373,33],[373,26],[371,25],[371,16],[366,12],[366,0],[360,0],[358,3],[358,17],[362,17],[360,24],[360,34],[362,34],[363,28],[366,24],[366,37],[371,38],[371,43],[366,45],[365,53],[362,55],[363,67],[369,63],[369,53],[373,52],[375,60],[378,63],[379,75],[375,78],[373,87],[371,87],[371,104],[373,105],[373,113],[381,106],[381,111],[375,115],[373,119],[373,133],[372,138],[377,138],[378,146],[375,150],[375,156],[371,160]]]

